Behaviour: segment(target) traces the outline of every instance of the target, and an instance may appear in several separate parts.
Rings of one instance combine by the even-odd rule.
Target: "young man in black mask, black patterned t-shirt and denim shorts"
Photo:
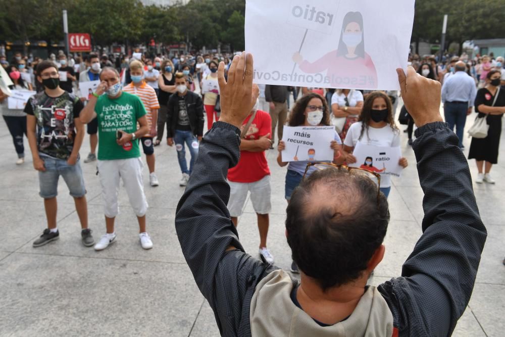
[[[86,188],[79,163],[79,149],[84,139],[84,127],[79,119],[83,105],[78,97],[60,87],[58,68],[53,62],[40,62],[37,75],[44,91],[28,100],[24,112],[27,114],[33,167],[38,171],[39,194],[44,199],[47,228],[33,242],[33,247],[43,246],[60,237],[56,223],[60,176],[74,198],[81,223],[82,243],[90,247],[94,239],[88,228]]]

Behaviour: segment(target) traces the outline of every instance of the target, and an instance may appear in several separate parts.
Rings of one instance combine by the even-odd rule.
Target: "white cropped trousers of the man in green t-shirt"
[[[140,158],[99,160],[98,176],[102,185],[104,197],[104,212],[108,218],[114,218],[119,214],[118,193],[119,180],[128,194],[130,205],[138,217],[147,212],[147,200],[144,194],[142,169],[144,165]]]

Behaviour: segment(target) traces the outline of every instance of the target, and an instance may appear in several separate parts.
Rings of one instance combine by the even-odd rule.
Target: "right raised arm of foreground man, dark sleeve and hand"
[[[414,151],[425,193],[423,234],[402,277],[379,286],[400,335],[450,335],[472,294],[486,229],[458,138],[439,114],[440,84],[409,67],[401,94],[415,123]],[[419,100],[427,97],[429,100]]]

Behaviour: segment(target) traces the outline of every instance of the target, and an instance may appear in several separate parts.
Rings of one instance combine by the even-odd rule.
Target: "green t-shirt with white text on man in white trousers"
[[[140,157],[138,140],[119,146],[116,131],[133,133],[137,130],[137,120],[145,115],[140,98],[128,92],[111,99],[102,95],[96,101],[98,118],[98,160],[129,159]]]

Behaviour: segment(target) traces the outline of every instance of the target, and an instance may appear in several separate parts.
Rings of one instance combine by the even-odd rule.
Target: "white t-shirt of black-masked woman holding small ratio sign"
[[[382,128],[368,127],[367,130],[363,132],[363,137],[361,139],[361,126],[363,122],[356,122],[349,127],[347,135],[345,136],[344,145],[355,148],[358,141],[365,145],[373,145],[377,147],[393,148],[400,146],[400,133],[399,131],[393,130],[393,128],[388,124]],[[381,175],[380,178],[381,187],[391,186],[391,176]]]

